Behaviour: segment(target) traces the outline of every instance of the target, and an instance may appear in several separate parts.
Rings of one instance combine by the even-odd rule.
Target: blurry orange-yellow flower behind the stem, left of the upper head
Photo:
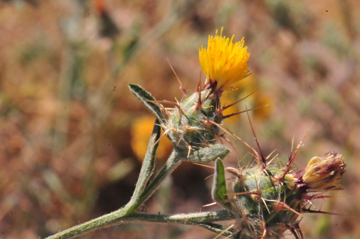
[[[131,148],[137,159],[142,162],[148,149],[148,143],[153,131],[155,117],[143,116],[134,120],[131,126]],[[159,146],[156,151],[156,157],[166,160],[172,150],[172,143],[168,137],[160,139]]]

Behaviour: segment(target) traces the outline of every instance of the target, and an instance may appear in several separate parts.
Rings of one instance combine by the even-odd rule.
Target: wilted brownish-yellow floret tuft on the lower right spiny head
[[[341,155],[331,152],[322,157],[313,157],[302,181],[308,188],[308,191],[321,191],[334,188],[335,183],[340,180],[345,172],[346,162]]]

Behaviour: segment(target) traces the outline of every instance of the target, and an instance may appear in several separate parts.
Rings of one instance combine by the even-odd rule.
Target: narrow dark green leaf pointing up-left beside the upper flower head
[[[141,86],[136,84],[129,84],[129,88],[131,93],[133,93],[136,98],[141,100],[141,103],[145,105],[149,109],[151,113],[160,121],[161,124],[164,123],[164,116],[163,113],[161,113],[160,107],[155,104],[155,98],[145,89],[143,89]]]

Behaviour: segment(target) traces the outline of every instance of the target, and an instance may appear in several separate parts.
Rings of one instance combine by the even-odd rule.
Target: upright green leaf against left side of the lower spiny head
[[[212,198],[225,209],[232,208],[232,204],[228,201],[229,198],[226,195],[225,167],[220,158],[215,161],[215,173],[211,194]]]

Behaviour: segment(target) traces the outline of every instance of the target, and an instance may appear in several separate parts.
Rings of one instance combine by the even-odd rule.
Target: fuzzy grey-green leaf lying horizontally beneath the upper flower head
[[[190,162],[211,162],[217,158],[225,158],[230,153],[222,144],[214,144],[211,147],[206,147],[195,151],[186,160]]]

